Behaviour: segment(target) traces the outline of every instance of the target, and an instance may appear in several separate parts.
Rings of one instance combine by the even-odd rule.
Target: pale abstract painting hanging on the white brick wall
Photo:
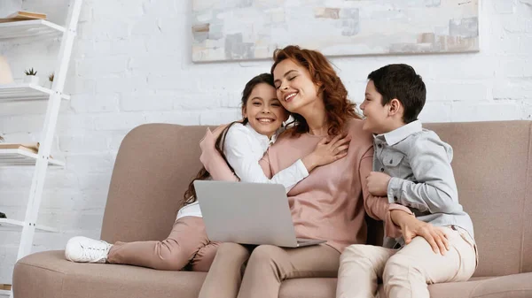
[[[192,0],[192,60],[479,50],[479,0]]]

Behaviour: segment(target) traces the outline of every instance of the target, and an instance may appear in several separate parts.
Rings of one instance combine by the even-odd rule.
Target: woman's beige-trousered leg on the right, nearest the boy
[[[239,298],[278,298],[281,282],[297,278],[335,278],[340,252],[322,244],[306,248],[261,245],[254,249]]]

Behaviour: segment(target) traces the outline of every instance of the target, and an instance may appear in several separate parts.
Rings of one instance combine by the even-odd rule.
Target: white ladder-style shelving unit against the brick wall
[[[24,149],[0,149],[0,166],[35,165],[24,220],[0,218],[0,231],[21,231],[17,260],[31,253],[35,231],[59,232],[58,229],[38,225],[36,222],[39,208],[41,207],[44,180],[48,166],[64,165],[62,162],[50,158],[50,151],[60,104],[63,100],[70,98],[63,94],[63,88],[65,87],[66,72],[72,54],[82,2],[82,0],[70,0],[65,27],[41,19],[0,23],[0,42],[13,42],[20,39],[39,41],[55,37],[61,38],[61,46],[51,88],[43,88],[33,84],[0,86],[0,103],[48,99],[38,152],[35,154]],[[12,297],[12,291],[1,290],[0,295],[3,294],[10,294]]]

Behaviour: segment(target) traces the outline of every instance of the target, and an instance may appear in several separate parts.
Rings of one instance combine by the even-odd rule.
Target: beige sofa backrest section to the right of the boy
[[[427,124],[454,149],[460,203],[473,218],[475,276],[532,271],[532,121]]]

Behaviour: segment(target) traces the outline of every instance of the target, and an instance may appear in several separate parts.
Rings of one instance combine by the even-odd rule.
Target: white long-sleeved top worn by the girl
[[[279,132],[278,132],[279,133]],[[277,134],[271,140],[263,134],[255,132],[252,126],[235,123],[225,134],[223,152],[227,162],[231,164],[233,171],[243,182],[282,184],[286,193],[299,181],[309,176],[305,164],[298,159],[285,170],[278,172],[268,179],[259,161],[266,150],[275,142]],[[201,217],[200,204],[198,201],[184,206],[177,212],[177,218]]]

